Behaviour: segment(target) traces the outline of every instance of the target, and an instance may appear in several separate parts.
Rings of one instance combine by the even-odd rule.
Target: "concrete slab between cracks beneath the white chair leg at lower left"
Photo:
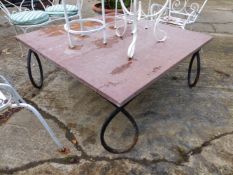
[[[0,127],[0,169],[13,169],[19,165],[37,164],[38,161],[50,159],[61,161],[68,156],[81,155],[66,139],[66,128],[59,128],[52,118],[48,120],[48,124],[64,146],[70,148],[69,153],[57,151],[56,145],[38,119],[30,112],[21,110]]]

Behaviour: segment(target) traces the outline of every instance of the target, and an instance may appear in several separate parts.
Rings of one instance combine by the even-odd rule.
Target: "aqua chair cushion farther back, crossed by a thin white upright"
[[[76,15],[78,13],[78,7],[75,5],[66,5],[66,9],[67,9],[68,16],[73,16],[73,15]],[[63,5],[61,5],[61,4],[49,6],[45,9],[45,12],[49,16],[64,17],[64,8],[63,8]]]

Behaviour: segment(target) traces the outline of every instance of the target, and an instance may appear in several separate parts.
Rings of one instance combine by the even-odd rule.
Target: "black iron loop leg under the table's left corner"
[[[40,80],[39,80],[39,83],[36,83],[36,81],[34,80],[34,78],[32,76],[32,54],[35,56],[36,61],[38,63],[39,70],[40,70]],[[41,61],[40,61],[40,58],[39,58],[38,54],[35,53],[34,51],[32,51],[31,49],[28,50],[27,69],[28,69],[29,79],[30,79],[32,85],[34,87],[38,88],[38,89],[42,88],[44,77],[43,77],[43,69],[42,69]]]

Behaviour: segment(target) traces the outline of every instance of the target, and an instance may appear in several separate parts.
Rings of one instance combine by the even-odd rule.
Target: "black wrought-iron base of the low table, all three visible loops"
[[[32,76],[32,70],[31,70],[31,59],[32,59],[32,54],[34,54],[36,61],[38,63],[39,69],[40,69],[40,83],[37,84]],[[192,71],[192,66],[193,66],[193,61],[194,59],[197,59],[197,72],[196,72],[196,77],[194,79],[193,82],[191,82],[191,71]],[[32,85],[36,88],[41,88],[43,86],[43,69],[42,69],[42,65],[41,65],[41,61],[40,58],[38,56],[37,53],[35,53],[34,51],[32,51],[31,49],[29,49],[28,51],[28,56],[27,56],[27,68],[28,68],[28,75],[30,78],[30,81],[32,83]],[[200,63],[200,54],[199,51],[195,52],[192,55],[192,58],[190,60],[189,63],[189,68],[188,68],[188,86],[190,88],[196,86],[199,77],[200,77],[200,70],[201,70],[201,63]],[[132,99],[133,100],[133,99]],[[131,100],[131,101],[132,101]],[[101,127],[101,132],[100,132],[100,141],[102,146],[109,152],[113,153],[113,154],[120,154],[120,153],[126,153],[129,152],[137,143],[138,141],[138,136],[139,136],[139,129],[137,126],[136,121],[134,120],[133,116],[125,109],[125,106],[127,106],[131,101],[129,101],[128,103],[126,103],[124,106],[122,107],[118,107],[116,105],[114,105],[116,107],[116,109],[107,117],[107,119],[105,120],[104,124]],[[117,148],[112,148],[111,146],[109,146],[105,140],[105,132],[107,127],[109,126],[109,124],[112,122],[112,120],[117,117],[117,114],[119,113],[124,114],[124,116],[130,121],[130,123],[132,124],[134,130],[135,130],[135,134],[134,134],[134,138],[133,138],[133,142],[125,149],[117,149]]]

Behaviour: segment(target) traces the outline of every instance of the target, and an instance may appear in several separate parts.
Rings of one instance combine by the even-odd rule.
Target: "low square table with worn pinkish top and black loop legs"
[[[86,23],[85,27],[95,25],[98,24]],[[200,75],[199,51],[212,39],[206,34],[161,24],[161,28],[168,34],[168,39],[163,43],[156,43],[152,36],[153,23],[148,25],[149,28],[145,29],[143,22],[139,24],[135,56],[131,60],[127,58],[127,49],[132,39],[130,29],[124,38],[118,38],[111,23],[106,29],[106,45],[102,44],[102,35],[96,33],[90,36],[75,36],[76,47],[70,49],[63,26],[51,26],[17,36],[17,39],[29,48],[28,72],[35,87],[41,88],[43,85],[43,69],[39,54],[116,107],[107,117],[100,133],[101,144],[111,153],[128,152],[138,140],[138,126],[133,116],[125,109],[127,104],[188,56],[192,56],[188,69],[188,86],[194,87]],[[31,75],[32,54],[39,63],[40,84],[36,84]],[[197,59],[197,70],[192,81],[191,71],[195,59]],[[113,148],[105,140],[106,128],[120,112],[127,117],[135,129],[133,142],[125,149]]]

